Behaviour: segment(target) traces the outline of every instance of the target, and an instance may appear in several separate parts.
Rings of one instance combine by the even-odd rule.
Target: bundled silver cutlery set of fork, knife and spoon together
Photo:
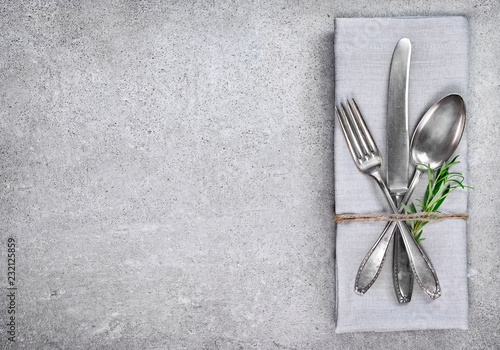
[[[388,101],[388,166],[381,173],[382,157],[354,99],[336,107],[336,114],[351,156],[358,169],[373,177],[384,193],[393,213],[403,211],[420,175],[422,164],[438,169],[455,152],[465,127],[465,104],[456,94],[436,102],[417,125],[411,146],[408,140],[408,72],[411,43],[401,39],[391,63]],[[408,184],[410,159],[415,174]],[[397,228],[397,229],[396,229]],[[355,279],[355,292],[364,294],[380,274],[389,243],[394,239],[393,281],[398,302],[411,300],[413,280],[431,299],[441,295],[441,287],[428,256],[416,242],[405,222],[387,223],[375,244],[361,262]]]

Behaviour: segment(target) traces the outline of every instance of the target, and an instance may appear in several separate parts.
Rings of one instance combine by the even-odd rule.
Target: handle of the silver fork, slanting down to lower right
[[[389,189],[387,188],[384,180],[379,175],[374,176],[374,178],[377,180],[377,183],[382,189],[382,192],[384,193],[393,213],[398,214],[398,209],[392,200],[391,194],[389,193]],[[406,224],[402,221],[396,221],[396,223],[399,227],[399,231],[401,232],[403,243],[408,253],[408,259],[410,260],[410,266],[413,270],[415,278],[417,279],[418,285],[431,299],[438,298],[441,296],[441,287],[432,263],[417,241],[415,241],[415,238],[410,233]]]

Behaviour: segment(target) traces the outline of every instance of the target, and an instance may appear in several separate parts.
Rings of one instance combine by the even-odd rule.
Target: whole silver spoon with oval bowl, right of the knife
[[[402,203],[408,203],[420,176],[427,170],[419,163],[429,164],[433,170],[441,167],[457,149],[464,127],[465,103],[462,97],[456,94],[443,97],[424,114],[411,139],[410,153],[416,170]],[[401,205],[399,212],[402,209]],[[356,275],[356,293],[366,293],[377,279],[393,236],[394,230],[389,229],[393,224],[394,222],[389,222],[386,225],[363,259]]]

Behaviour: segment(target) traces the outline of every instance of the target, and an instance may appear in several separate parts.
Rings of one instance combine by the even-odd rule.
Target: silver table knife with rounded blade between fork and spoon
[[[411,42],[398,41],[392,55],[387,100],[387,186],[399,206],[408,190],[410,141],[408,135],[408,81]],[[393,282],[400,303],[411,300],[413,272],[397,225],[394,225]]]

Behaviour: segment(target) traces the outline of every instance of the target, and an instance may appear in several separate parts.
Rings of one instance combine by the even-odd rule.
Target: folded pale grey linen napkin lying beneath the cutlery
[[[408,106],[410,137],[420,118],[441,97],[458,93],[467,106],[469,32],[466,18],[337,19],[335,103],[338,105],[351,97],[356,100],[382,156],[387,150],[385,129],[390,63],[394,46],[404,37],[412,42]],[[376,182],[356,168],[338,121],[334,136],[336,213],[390,213]],[[466,176],[465,134],[456,154],[460,155],[461,164],[452,169]],[[413,199],[423,197],[426,185],[424,175]],[[450,194],[441,210],[466,213],[467,190]],[[391,274],[392,245],[382,272],[371,289],[363,296],[354,292],[358,267],[384,226],[385,222],[337,225],[336,332],[467,329],[465,221],[445,220],[424,228],[426,240],[421,246],[436,269],[442,296],[432,301],[415,283],[409,304],[398,304],[396,300]]]

